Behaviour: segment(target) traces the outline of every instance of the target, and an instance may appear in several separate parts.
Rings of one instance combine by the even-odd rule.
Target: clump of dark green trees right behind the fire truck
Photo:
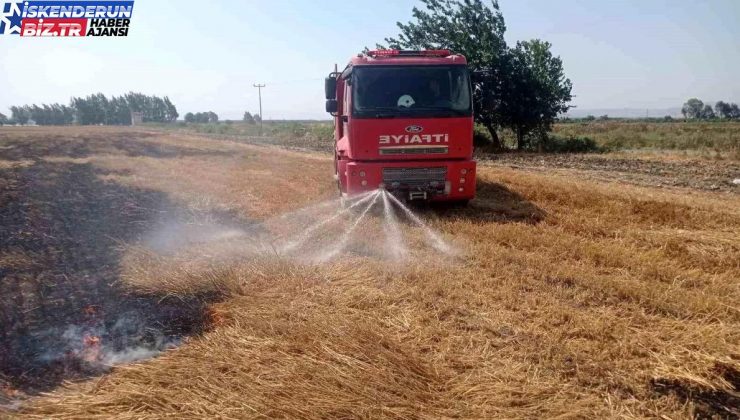
[[[564,77],[562,60],[540,40],[509,48],[496,0],[421,1],[424,8],[412,11],[414,21],[398,22],[401,33],[385,42],[391,48],[449,49],[465,55],[476,72],[475,121],[488,130],[494,146],[502,147],[500,127],[514,129],[521,148],[527,134],[549,131],[557,115],[569,109],[572,84]]]

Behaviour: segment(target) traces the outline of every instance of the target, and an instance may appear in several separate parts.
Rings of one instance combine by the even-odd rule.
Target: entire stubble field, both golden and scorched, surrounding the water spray
[[[180,344],[102,375],[62,369],[49,384],[46,371],[14,370],[28,360],[16,352],[0,360],[6,400],[51,392],[5,414],[740,416],[740,196],[729,189],[483,165],[469,207],[418,209],[461,250],[452,258],[350,252],[304,265],[221,260],[218,241],[188,255],[140,246],[173,219],[250,226],[321,201],[331,168],[326,155],[182,133],[0,130],[3,343],[84,323],[63,314],[92,304],[111,305],[111,320],[137,308]]]

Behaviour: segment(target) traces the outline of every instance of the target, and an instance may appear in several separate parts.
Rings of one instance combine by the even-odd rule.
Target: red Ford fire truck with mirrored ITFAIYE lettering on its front
[[[465,57],[447,50],[358,54],[326,78],[335,176],[343,195],[475,196],[473,100]]]

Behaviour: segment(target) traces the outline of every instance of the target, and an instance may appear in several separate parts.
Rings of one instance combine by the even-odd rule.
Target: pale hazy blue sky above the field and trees
[[[0,0],[2,2],[2,0]],[[740,0],[500,0],[506,40],[553,44],[588,109],[740,101]],[[398,33],[412,0],[135,0],[128,37],[0,35],[0,112],[128,91],[180,115],[326,119],[323,78]]]

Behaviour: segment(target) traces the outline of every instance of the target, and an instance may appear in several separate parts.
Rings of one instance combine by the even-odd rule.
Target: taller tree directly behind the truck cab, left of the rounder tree
[[[494,146],[501,148],[496,130],[501,126],[502,101],[508,85],[506,25],[493,0],[490,7],[482,0],[422,0],[424,9],[413,8],[415,19],[398,22],[401,33],[386,38],[390,48],[450,49],[465,55],[471,69],[483,72],[474,79],[475,121],[491,135]],[[383,46],[378,46],[383,48]]]

